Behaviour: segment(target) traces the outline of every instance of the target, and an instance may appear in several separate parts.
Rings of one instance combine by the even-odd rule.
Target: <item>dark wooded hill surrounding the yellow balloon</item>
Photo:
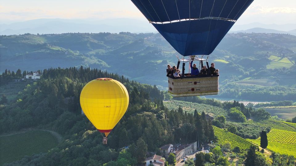
[[[207,121],[204,112],[199,114],[195,110],[194,114],[190,114],[177,105],[179,109],[168,110],[162,103],[164,94],[156,86],[83,67],[44,69],[42,74],[40,80],[28,84],[26,89],[19,92],[16,100],[1,106],[0,133],[39,127],[60,133],[64,141],[46,154],[27,156],[14,164],[133,164],[142,162],[147,151],[158,152],[163,144],[180,141],[198,141],[201,144],[215,140],[212,123]],[[102,136],[81,115],[79,104],[83,86],[99,77],[120,81],[130,95],[128,110],[110,133],[107,146],[101,144]],[[13,79],[5,73],[0,78],[2,83]],[[129,148],[123,150],[126,146]]]

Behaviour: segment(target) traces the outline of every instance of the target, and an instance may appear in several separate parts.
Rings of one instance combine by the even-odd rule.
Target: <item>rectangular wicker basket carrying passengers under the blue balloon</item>
[[[218,94],[218,78],[213,77],[168,77],[169,90],[173,97]]]

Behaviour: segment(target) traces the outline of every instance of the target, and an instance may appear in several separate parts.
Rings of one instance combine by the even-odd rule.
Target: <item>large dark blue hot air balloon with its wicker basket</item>
[[[178,53],[183,56],[201,55],[202,57],[210,55],[214,51],[236,20],[253,2],[253,0],[131,1]],[[183,61],[184,66],[184,63],[187,61],[195,60],[202,64],[202,61],[207,59],[192,57],[188,58],[188,60],[179,59],[178,66],[180,61]],[[179,79],[188,80],[189,77],[184,78],[186,75],[184,71],[182,73],[183,77],[172,78],[171,82],[176,82]],[[208,75],[211,76],[211,73]],[[193,82],[196,82],[195,85],[200,85],[199,81]],[[184,85],[177,86],[176,83],[175,85],[170,85],[169,83],[168,92],[175,97],[218,94],[218,77],[216,82],[216,90],[201,90],[203,86],[195,86],[193,88],[189,86],[189,89],[184,89]],[[184,90],[177,92],[171,89]]]

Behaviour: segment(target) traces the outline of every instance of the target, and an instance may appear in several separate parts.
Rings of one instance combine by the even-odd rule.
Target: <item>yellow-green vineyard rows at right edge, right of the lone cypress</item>
[[[258,138],[260,140],[260,138]],[[272,129],[267,134],[267,140],[286,144],[296,144],[296,132]]]

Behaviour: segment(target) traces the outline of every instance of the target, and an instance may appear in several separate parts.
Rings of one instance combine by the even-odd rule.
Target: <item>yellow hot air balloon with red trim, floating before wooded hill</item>
[[[107,137],[125,114],[129,105],[129,94],[119,81],[97,78],[83,87],[80,105],[89,121]],[[107,143],[106,137],[103,139],[104,143]]]

